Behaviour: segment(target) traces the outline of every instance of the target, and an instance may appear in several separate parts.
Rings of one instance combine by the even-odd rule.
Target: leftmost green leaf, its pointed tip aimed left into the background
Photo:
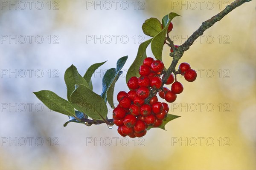
[[[75,115],[75,109],[64,98],[59,97],[54,92],[49,90],[41,90],[39,92],[33,92],[36,97],[43,102],[49,109],[62,113],[68,116]]]

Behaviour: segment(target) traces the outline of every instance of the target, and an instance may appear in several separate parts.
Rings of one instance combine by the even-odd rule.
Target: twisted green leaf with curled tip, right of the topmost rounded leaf
[[[171,12],[170,14],[164,16],[162,22],[163,22],[163,25],[165,25],[165,27],[163,27],[163,30],[161,32],[159,32],[156,36],[154,36],[151,42],[151,50],[157,60],[162,61],[163,45],[164,45],[164,40],[166,38],[166,34],[168,31],[168,26],[172,21],[172,19],[177,16],[180,16],[180,15],[174,12]]]

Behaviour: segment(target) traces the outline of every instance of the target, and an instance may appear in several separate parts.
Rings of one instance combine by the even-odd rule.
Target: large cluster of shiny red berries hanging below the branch
[[[176,94],[183,91],[182,84],[175,81],[173,74],[165,82],[165,84],[172,84],[172,90],[163,87],[162,79],[165,75],[162,79],[160,78],[163,69],[162,61],[145,58],[139,69],[140,77],[131,77],[127,83],[131,90],[117,94],[119,104],[113,109],[113,121],[118,126],[117,131],[120,135],[128,135],[131,138],[142,137],[147,133],[148,126],[159,127],[163,123],[163,119],[169,112],[169,106],[158,101],[157,91],[159,96],[167,102],[174,102],[177,98]],[[184,75],[190,82],[196,78],[195,70],[190,69],[188,63],[181,63],[177,74]],[[150,95],[153,96],[145,103],[147,101],[145,99]]]

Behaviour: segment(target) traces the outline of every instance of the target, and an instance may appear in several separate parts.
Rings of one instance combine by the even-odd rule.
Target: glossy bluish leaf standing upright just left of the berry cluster
[[[105,102],[107,102],[107,91],[109,86],[111,85],[111,82],[114,80],[116,75],[116,69],[115,68],[111,68],[108,69],[105,73],[105,75],[103,75],[102,78],[102,98]]]

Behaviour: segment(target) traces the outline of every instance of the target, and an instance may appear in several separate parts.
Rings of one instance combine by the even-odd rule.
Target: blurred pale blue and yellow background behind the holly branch
[[[195,82],[178,76],[183,92],[169,104],[181,116],[166,130],[122,138],[117,127],[86,127],[50,111],[32,92],[66,97],[64,72],[74,64],[84,75],[107,61],[102,76],[128,55],[114,94],[128,91],[125,71],[150,37],[150,17],[175,17],[170,37],[180,45],[201,23],[232,1],[0,1],[1,169],[256,169],[256,1],[245,3],[208,29],[180,60],[198,72]],[[152,57],[150,47],[147,54]],[[164,47],[163,61],[172,61]],[[169,86],[167,86],[169,87]],[[116,102],[116,98],[114,99]],[[111,117],[111,109],[108,116]]]

